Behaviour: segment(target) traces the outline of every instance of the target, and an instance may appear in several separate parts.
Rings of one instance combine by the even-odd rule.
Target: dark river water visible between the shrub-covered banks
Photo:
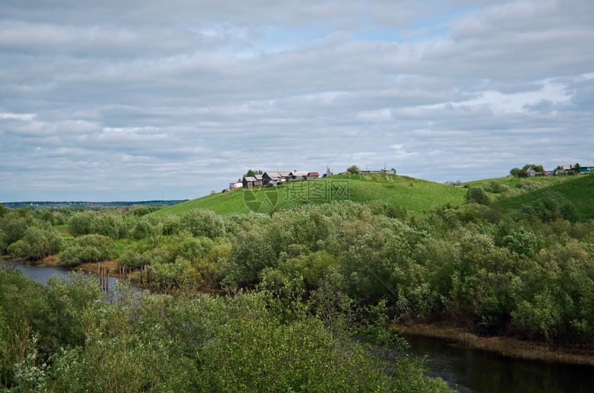
[[[46,283],[67,269],[3,261],[23,276]],[[109,278],[113,289],[117,278]],[[405,335],[415,356],[428,356],[431,376],[439,376],[461,393],[594,393],[594,367],[506,358],[490,352],[447,345],[437,338]]]

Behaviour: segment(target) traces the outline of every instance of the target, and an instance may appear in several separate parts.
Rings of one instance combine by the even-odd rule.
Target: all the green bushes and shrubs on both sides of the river
[[[10,392],[439,392],[396,321],[591,348],[594,231],[557,193],[514,211],[407,211],[372,200],[268,214],[2,209],[0,252],[146,267],[150,291],[104,298],[0,270],[0,377]],[[486,198],[486,199],[485,199]],[[51,258],[51,257],[50,257]]]

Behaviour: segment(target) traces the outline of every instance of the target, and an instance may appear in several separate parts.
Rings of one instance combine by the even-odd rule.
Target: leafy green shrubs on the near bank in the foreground
[[[382,318],[329,327],[299,297],[124,288],[106,302],[82,276],[44,287],[6,269],[0,284],[0,388],[11,392],[450,391],[386,340]],[[374,356],[381,348],[396,357]]]

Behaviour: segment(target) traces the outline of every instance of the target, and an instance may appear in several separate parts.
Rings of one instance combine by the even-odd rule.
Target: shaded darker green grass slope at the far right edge
[[[594,175],[564,176],[544,189],[538,189],[497,202],[502,211],[517,210],[522,205],[533,204],[546,193],[557,193],[575,206],[579,220],[594,218]]]

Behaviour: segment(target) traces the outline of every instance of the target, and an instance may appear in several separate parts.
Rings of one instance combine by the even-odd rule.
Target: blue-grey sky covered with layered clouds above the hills
[[[0,202],[594,165],[594,1],[3,0]]]

